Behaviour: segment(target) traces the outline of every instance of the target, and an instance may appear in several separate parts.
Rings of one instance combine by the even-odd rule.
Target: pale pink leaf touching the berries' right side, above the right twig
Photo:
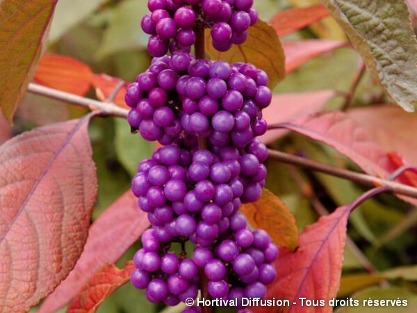
[[[334,90],[318,90],[308,93],[287,93],[274,95],[272,104],[263,110],[263,117],[268,125],[291,122],[304,115],[316,113],[322,109],[329,99],[334,97]],[[272,129],[261,136],[263,143],[272,143],[288,133],[286,129]]]

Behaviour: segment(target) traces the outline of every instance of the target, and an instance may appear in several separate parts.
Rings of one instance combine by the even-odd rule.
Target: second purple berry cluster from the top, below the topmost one
[[[268,75],[250,64],[195,60],[185,52],[154,58],[127,90],[129,124],[163,145],[185,130],[213,146],[243,148],[267,129],[267,84]]]

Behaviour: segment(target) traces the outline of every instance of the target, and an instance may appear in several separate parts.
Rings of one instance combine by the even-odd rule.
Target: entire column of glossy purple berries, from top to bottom
[[[253,0],[149,0],[149,69],[126,91],[132,131],[163,145],[141,161],[132,191],[152,224],[142,234],[132,284],[149,301],[177,305],[204,288],[213,298],[263,298],[278,248],[238,209],[261,197],[268,150],[262,110],[268,75],[254,65],[196,59],[196,29],[225,51],[258,19]],[[199,32],[201,35],[201,32]],[[166,56],[167,51],[171,56]],[[194,244],[187,255],[186,243]],[[173,252],[172,243],[181,245]],[[207,282],[206,282],[207,280]],[[239,301],[238,301],[239,303]],[[237,305],[240,313],[250,310]],[[199,313],[188,307],[183,313]]]

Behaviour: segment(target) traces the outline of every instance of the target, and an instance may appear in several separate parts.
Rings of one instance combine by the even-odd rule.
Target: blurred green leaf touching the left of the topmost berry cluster
[[[119,51],[147,47],[148,35],[140,31],[140,19],[147,13],[147,1],[126,0],[120,3],[111,15],[103,43],[95,56],[104,58]]]

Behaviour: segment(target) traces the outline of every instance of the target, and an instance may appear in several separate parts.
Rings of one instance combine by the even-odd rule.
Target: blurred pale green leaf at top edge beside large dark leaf
[[[106,2],[107,0],[60,0],[56,5],[54,19],[52,19],[49,41],[58,40]]]

